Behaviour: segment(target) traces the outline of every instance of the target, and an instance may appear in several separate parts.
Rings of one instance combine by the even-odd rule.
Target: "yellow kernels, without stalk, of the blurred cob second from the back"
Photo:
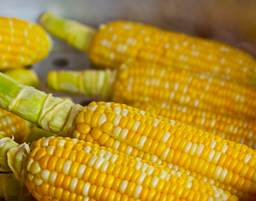
[[[129,61],[113,84],[113,101],[177,103],[222,114],[256,116],[256,88],[193,71]]]

